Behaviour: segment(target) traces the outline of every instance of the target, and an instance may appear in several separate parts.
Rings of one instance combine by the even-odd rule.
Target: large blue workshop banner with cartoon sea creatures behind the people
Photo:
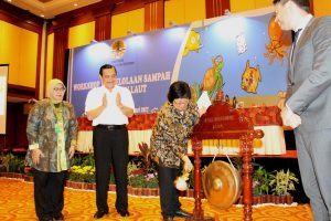
[[[238,99],[277,96],[286,90],[290,44],[270,10],[96,42],[71,50],[68,97],[77,116],[84,114],[106,63],[131,91],[136,114],[158,110],[178,80],[190,84],[194,99],[203,91],[213,99],[218,90]]]

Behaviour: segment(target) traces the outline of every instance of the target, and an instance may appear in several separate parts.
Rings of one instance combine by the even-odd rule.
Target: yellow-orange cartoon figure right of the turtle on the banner
[[[247,93],[256,94],[258,82],[261,82],[259,65],[249,66],[249,60],[246,62],[246,69],[242,75],[242,88]]]

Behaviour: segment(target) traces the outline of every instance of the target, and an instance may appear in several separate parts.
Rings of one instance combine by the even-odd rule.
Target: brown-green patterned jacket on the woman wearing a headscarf
[[[61,160],[66,161],[66,169],[71,165],[68,150],[71,146],[76,145],[77,140],[77,120],[74,106],[67,102],[61,103],[61,116],[63,119],[64,131],[64,159],[58,159],[58,139],[56,133],[56,113],[49,99],[42,99],[34,104],[30,110],[26,126],[26,135],[30,146],[36,146],[41,151],[40,164],[33,164],[31,150],[26,152],[26,164],[40,171],[58,172]]]

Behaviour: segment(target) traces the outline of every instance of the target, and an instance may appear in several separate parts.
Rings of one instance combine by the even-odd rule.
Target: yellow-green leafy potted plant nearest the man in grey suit
[[[280,202],[291,203],[292,197],[290,191],[296,190],[295,183],[299,183],[299,179],[289,169],[285,172],[284,169],[275,170],[270,175],[269,186],[275,196],[281,197]]]

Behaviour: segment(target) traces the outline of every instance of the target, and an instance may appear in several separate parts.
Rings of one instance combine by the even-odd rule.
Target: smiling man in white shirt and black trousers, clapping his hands
[[[93,146],[96,166],[95,219],[108,214],[107,204],[110,164],[116,181],[116,210],[121,217],[128,212],[128,117],[134,115],[135,103],[130,91],[117,85],[117,71],[110,64],[99,70],[103,85],[88,92],[85,102],[87,118],[93,120]]]

